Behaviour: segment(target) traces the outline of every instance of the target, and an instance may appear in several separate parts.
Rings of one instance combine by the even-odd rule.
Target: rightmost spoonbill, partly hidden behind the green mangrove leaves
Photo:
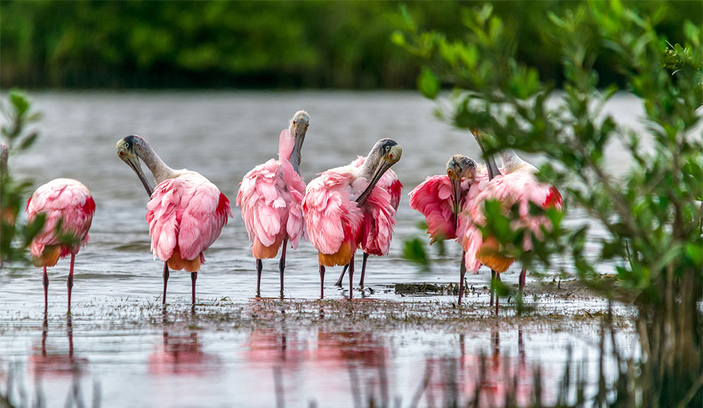
[[[483,150],[481,133],[474,131],[476,141]],[[539,205],[541,208],[556,208],[562,210],[562,198],[555,186],[537,181],[536,174],[539,170],[535,166],[521,159],[513,149],[505,149],[500,152],[502,162],[502,175],[491,179],[485,188],[481,189],[470,199],[468,207],[468,217],[471,222],[466,223],[466,230],[463,233],[463,247],[466,249],[466,268],[476,273],[483,265],[488,266],[491,272],[495,272],[495,278],[500,280],[500,273],[505,272],[515,261],[514,258],[502,254],[500,246],[494,237],[483,237],[479,229],[480,225],[485,225],[485,215],[483,214],[483,204],[486,200],[497,200],[501,208],[508,212],[513,205],[519,205],[519,220],[516,220],[512,228],[526,228],[537,239],[542,237],[542,227],[549,228],[551,222],[545,215],[532,215],[529,212],[529,203]],[[522,243],[523,251],[532,249],[532,238],[529,235],[524,237]],[[519,292],[525,285],[527,268],[522,267],[519,277]],[[496,295],[495,312],[498,312],[498,300]]]

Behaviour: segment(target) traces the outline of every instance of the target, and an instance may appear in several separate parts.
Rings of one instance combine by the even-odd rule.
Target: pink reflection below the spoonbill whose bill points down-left
[[[152,375],[200,375],[217,370],[220,360],[203,353],[197,333],[169,336],[164,331],[163,342],[154,346],[147,365]]]

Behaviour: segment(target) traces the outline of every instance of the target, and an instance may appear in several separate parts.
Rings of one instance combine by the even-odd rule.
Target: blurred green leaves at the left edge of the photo
[[[20,91],[11,91],[8,101],[0,105],[0,111],[6,120],[1,135],[3,142],[9,147],[9,153],[28,149],[38,134],[28,132],[27,126],[39,120],[40,113],[31,112],[29,99]],[[25,259],[25,249],[40,232],[45,221],[45,216],[40,214],[27,224],[17,222],[18,214],[30,194],[32,183],[14,179],[6,166],[7,164],[3,163],[0,176],[0,263]]]

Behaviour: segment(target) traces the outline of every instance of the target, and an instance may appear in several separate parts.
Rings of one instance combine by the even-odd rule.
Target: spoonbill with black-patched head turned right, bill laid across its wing
[[[324,296],[327,266],[349,264],[352,288],[354,252],[368,237],[369,229],[377,231],[383,247],[390,245],[395,210],[388,191],[375,187],[401,154],[403,149],[394,140],[378,140],[364,166],[348,164],[324,171],[305,188],[303,217],[310,242],[319,251],[320,297]],[[367,213],[371,217],[366,217]]]

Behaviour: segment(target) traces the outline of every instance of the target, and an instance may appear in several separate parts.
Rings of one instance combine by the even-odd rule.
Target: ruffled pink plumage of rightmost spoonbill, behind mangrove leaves
[[[473,187],[472,187],[473,188]],[[473,193],[473,196],[472,196]],[[507,213],[513,205],[517,203],[519,210],[519,220],[515,220],[511,227],[513,229],[527,228],[537,239],[543,236],[542,228],[549,228],[551,222],[545,215],[531,215],[529,203],[539,205],[541,208],[556,208],[562,210],[561,194],[556,187],[545,183],[539,183],[531,171],[515,171],[504,176],[498,176],[485,186],[477,186],[476,191],[470,192],[470,203],[466,215],[470,222],[466,223],[466,230],[463,232],[462,244],[466,250],[466,268],[468,271],[476,273],[481,263],[479,261],[483,249],[496,249],[495,240],[488,237],[483,239],[483,234],[478,228],[485,225],[485,215],[483,214],[483,204],[486,200],[497,200]],[[532,249],[532,239],[527,234],[522,242],[522,249],[529,251]],[[512,263],[512,259],[505,256],[493,256],[496,259],[496,266],[490,266],[496,271],[505,271]]]

